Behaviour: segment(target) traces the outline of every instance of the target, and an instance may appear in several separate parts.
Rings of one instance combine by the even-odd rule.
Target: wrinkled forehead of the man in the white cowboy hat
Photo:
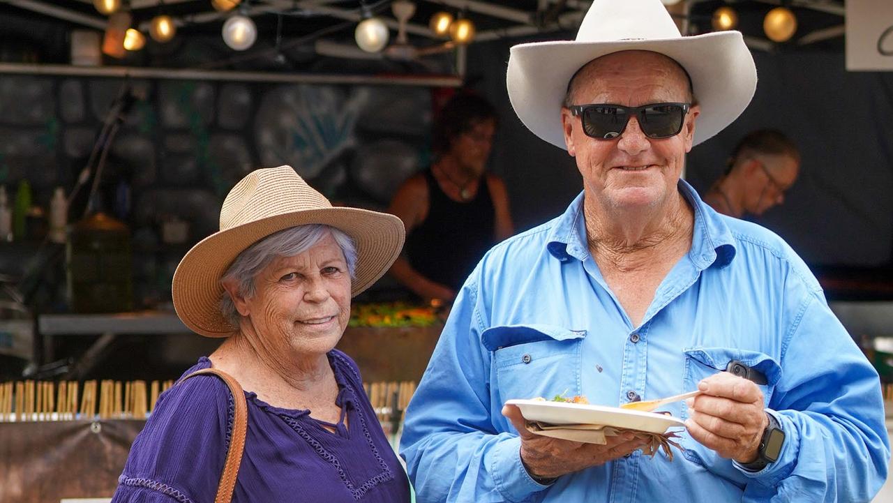
[[[620,51],[597,57],[573,74],[568,92],[572,93],[584,82],[597,87],[606,83],[624,87],[627,82],[642,80],[665,88],[678,87],[687,92],[689,101],[694,101],[689,73],[671,57],[652,51]]]

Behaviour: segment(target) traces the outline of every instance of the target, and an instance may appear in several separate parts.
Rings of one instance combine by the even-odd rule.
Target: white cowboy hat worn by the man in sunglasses
[[[689,72],[701,107],[695,145],[737,119],[754,97],[756,66],[740,32],[682,37],[660,0],[595,0],[576,40],[512,47],[505,84],[514,112],[533,134],[567,148],[561,106],[573,74],[597,57],[633,50],[664,54]]]

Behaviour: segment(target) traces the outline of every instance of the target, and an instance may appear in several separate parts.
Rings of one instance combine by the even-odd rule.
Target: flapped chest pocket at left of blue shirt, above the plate
[[[505,325],[481,334],[492,352],[491,389],[498,403],[512,398],[580,394],[586,331],[555,325]]]

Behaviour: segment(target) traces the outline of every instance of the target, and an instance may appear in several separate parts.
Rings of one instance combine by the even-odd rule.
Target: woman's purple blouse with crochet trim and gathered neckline
[[[410,500],[404,468],[381,431],[356,364],[338,349],[329,362],[338,381],[338,424],[245,393],[248,430],[233,502]],[[183,375],[210,366],[203,356]],[[232,415],[230,389],[213,375],[163,392],[130,448],[113,503],[212,503]]]

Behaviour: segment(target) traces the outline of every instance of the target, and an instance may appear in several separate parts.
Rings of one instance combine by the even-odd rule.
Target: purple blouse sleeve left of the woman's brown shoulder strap
[[[213,375],[165,391],[130,448],[113,503],[213,501],[229,446],[232,404],[229,388]]]

